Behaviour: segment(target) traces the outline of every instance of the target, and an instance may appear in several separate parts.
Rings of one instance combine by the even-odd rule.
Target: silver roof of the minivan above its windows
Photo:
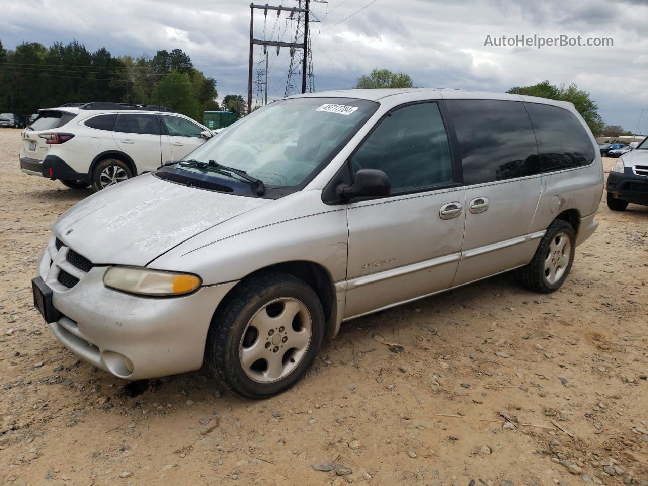
[[[512,93],[496,93],[494,91],[471,91],[470,89],[448,89],[436,87],[406,87],[406,88],[381,88],[381,89],[338,89],[336,91],[319,91],[304,93],[294,97],[340,97],[360,98],[363,100],[379,101],[388,97],[413,98],[419,95],[421,99],[481,99],[481,100],[513,100],[528,101],[556,106],[572,106],[566,101],[551,100],[535,96],[515,95]]]

